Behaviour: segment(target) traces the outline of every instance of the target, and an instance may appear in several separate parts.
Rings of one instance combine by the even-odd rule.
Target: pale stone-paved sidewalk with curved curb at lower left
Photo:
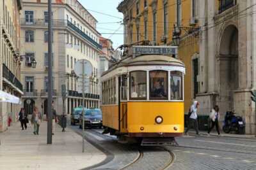
[[[47,122],[40,125],[39,135],[33,134],[29,125],[21,131],[20,124],[0,133],[0,169],[84,169],[99,164],[106,155],[85,141],[82,153],[82,139],[67,128],[61,132],[56,125],[52,145],[47,145]]]

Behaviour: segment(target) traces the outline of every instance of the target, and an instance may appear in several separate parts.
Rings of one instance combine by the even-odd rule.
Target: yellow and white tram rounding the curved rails
[[[106,132],[141,145],[172,143],[184,132],[184,64],[164,55],[125,57],[102,74]]]

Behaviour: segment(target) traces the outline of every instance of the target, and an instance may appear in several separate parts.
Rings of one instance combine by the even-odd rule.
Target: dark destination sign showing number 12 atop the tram
[[[132,46],[133,55],[177,55],[177,46]]]

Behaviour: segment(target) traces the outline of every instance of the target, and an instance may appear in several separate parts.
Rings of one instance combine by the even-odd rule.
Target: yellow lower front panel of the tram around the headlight
[[[129,133],[181,134],[184,132],[184,103],[182,102],[129,102],[127,106]],[[157,124],[155,120],[159,116],[163,118],[161,124]]]

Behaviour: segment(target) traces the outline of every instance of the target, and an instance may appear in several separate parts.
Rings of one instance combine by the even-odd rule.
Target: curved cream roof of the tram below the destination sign
[[[117,62],[108,71],[105,71],[103,75],[108,74],[118,67],[128,67],[128,66],[145,66],[145,65],[170,65],[170,66],[180,66],[184,67],[184,63],[170,56],[165,55],[140,55],[137,57],[125,57],[124,59]]]

